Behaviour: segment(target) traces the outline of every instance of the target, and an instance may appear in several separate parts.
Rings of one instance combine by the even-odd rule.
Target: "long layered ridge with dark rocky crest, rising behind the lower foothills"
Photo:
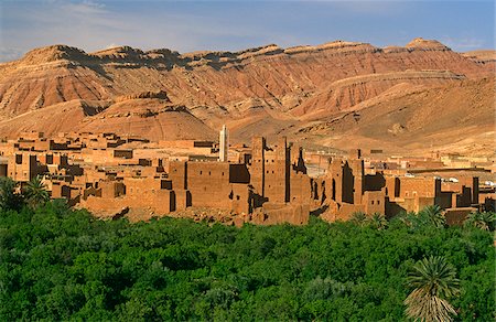
[[[298,137],[298,129],[309,121],[373,100],[493,74],[487,61],[423,39],[405,47],[335,41],[319,46],[281,49],[271,44],[240,52],[187,54],[128,46],[85,53],[54,45],[0,64],[0,129],[9,136],[13,133],[7,126],[13,124],[9,119],[43,115],[44,109],[65,101],[118,105],[129,100],[127,106],[137,114],[145,110],[147,104],[184,106],[181,119],[194,118],[211,131],[230,124],[235,139],[245,139],[252,131],[293,131]],[[88,127],[89,118],[95,117],[83,114],[77,126],[103,128]],[[163,131],[162,138],[171,135]],[[153,137],[161,138],[160,131]]]

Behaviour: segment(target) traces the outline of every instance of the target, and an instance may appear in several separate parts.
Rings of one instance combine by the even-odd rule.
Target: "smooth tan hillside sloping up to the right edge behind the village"
[[[495,88],[495,78],[417,88],[323,118],[299,131],[311,141],[342,149],[494,155]]]

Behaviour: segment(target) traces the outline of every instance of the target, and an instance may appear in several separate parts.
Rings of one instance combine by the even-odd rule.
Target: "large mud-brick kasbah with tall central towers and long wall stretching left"
[[[301,149],[291,153],[285,139],[270,148],[263,138],[255,138],[246,160],[169,160],[159,167],[164,175],[149,167],[153,171],[91,184],[83,194],[83,206],[96,212],[150,208],[157,214],[193,206],[229,211],[257,224],[306,223],[312,193]]]

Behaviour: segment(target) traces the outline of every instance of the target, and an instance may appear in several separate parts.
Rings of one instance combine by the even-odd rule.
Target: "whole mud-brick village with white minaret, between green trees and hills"
[[[225,126],[218,142],[33,131],[0,143],[0,176],[22,185],[40,175],[52,198],[103,218],[301,225],[311,215],[390,218],[439,205],[446,223],[459,225],[472,212],[494,211],[494,173],[488,158],[393,157],[379,149],[338,154],[305,150],[284,137],[229,144]]]

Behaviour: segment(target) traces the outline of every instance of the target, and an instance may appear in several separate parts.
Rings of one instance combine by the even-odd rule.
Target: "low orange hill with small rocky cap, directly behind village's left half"
[[[117,103],[74,99],[0,122],[2,137],[14,138],[30,130],[43,131],[48,137],[71,131],[116,132],[152,141],[164,138],[214,140],[217,137],[186,107],[159,98],[119,97]]]

